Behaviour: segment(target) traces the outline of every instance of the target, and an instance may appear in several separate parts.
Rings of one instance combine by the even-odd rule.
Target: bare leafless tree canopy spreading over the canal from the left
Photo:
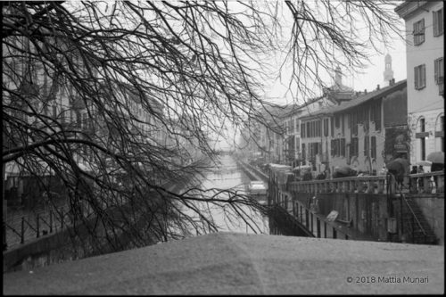
[[[157,241],[216,228],[195,202],[246,221],[244,205],[260,208],[234,191],[175,194],[160,181],[200,172],[228,123],[266,125],[271,53],[285,53],[290,91],[312,95],[320,71],[362,65],[397,17],[386,1],[33,1],[4,3],[3,19],[4,164],[42,186],[59,177],[72,209],[87,204],[109,242],[126,233],[141,245],[141,216]]]

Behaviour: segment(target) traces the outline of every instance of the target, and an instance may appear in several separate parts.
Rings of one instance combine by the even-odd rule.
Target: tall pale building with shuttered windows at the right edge
[[[405,1],[410,162],[444,152],[444,9],[442,1]]]

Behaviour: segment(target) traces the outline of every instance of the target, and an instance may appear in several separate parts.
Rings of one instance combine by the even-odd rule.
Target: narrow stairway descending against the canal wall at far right
[[[402,194],[402,224],[403,233],[407,236],[408,243],[438,243],[437,236],[425,219],[417,202],[413,201],[407,194]]]

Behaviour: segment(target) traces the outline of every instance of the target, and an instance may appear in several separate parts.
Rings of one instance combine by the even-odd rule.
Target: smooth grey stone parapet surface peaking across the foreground
[[[4,294],[429,294],[444,246],[218,233],[4,273]]]

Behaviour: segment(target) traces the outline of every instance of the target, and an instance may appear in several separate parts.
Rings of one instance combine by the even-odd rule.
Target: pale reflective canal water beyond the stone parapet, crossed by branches
[[[219,193],[219,190],[230,190],[237,194],[247,194],[246,190],[250,180],[244,175],[242,170],[238,169],[234,158],[228,155],[222,155],[219,157],[219,162],[219,166],[205,172],[203,177],[200,178],[200,188],[209,191],[206,192],[206,196],[209,197],[215,194],[215,197],[227,200],[229,194]],[[234,210],[226,204],[222,202],[219,204],[194,202],[194,207],[201,210],[205,214],[205,218],[217,226],[219,232],[269,234],[268,217],[262,216],[259,210],[255,210],[247,205],[239,206],[237,210]],[[189,209],[186,210],[186,213],[193,216],[197,221],[202,221],[194,211]],[[239,213],[244,213],[244,217],[247,220],[242,219]],[[206,227],[202,227],[199,232],[191,230],[193,235],[202,235],[211,232],[215,232],[215,230],[207,229]]]

